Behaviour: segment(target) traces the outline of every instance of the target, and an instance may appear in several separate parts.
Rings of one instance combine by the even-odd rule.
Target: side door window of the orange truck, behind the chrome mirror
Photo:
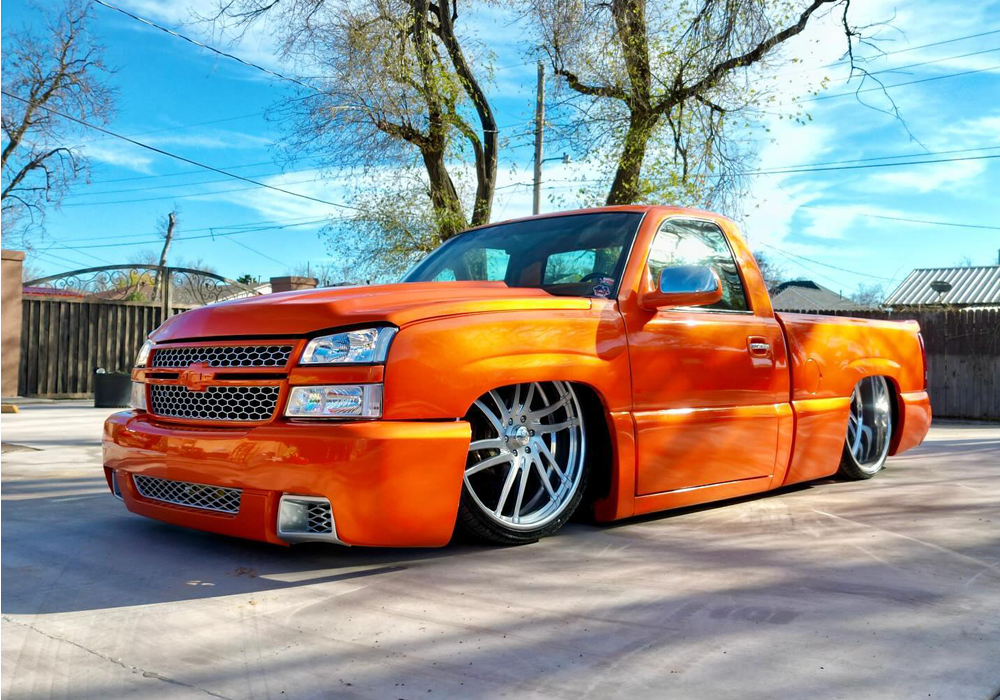
[[[647,263],[654,284],[664,268],[680,265],[703,265],[719,274],[722,299],[705,309],[747,311],[739,268],[729,242],[716,224],[695,219],[669,219],[656,232]]]

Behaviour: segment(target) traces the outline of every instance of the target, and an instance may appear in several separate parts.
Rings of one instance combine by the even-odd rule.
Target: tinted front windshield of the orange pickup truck
[[[611,297],[642,212],[570,214],[460,234],[403,282],[489,281],[561,296]]]

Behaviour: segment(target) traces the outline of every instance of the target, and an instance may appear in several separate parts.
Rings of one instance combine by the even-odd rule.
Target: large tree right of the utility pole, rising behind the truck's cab
[[[759,116],[776,50],[820,12],[841,13],[848,51],[860,37],[850,0],[528,2],[568,126],[610,165],[607,204],[738,195],[754,154],[730,125]]]

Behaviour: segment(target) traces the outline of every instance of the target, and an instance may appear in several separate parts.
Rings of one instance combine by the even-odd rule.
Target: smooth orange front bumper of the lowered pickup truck
[[[123,411],[104,424],[104,468],[130,511],[176,525],[285,544],[278,506],[283,494],[294,494],[328,499],[344,544],[433,547],[451,539],[469,440],[463,421],[234,429]],[[242,489],[239,512],[145,498],[135,475]]]

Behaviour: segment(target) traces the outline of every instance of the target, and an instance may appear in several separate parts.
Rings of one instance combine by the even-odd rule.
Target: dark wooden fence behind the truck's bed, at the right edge
[[[821,311],[920,323],[927,391],[940,418],[1000,420],[1000,309]]]

